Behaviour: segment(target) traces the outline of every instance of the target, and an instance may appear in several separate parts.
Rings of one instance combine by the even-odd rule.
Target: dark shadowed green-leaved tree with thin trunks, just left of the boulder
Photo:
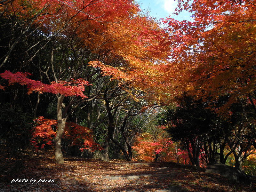
[[[228,132],[223,133],[223,125],[202,100],[193,100],[185,94],[176,99],[179,100],[176,107],[170,106],[158,115],[158,124],[168,126],[173,141],[182,142],[193,165],[199,166],[199,158],[206,164],[216,162],[218,141]]]

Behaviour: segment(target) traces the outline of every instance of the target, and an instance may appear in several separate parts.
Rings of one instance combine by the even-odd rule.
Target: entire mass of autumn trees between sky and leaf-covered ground
[[[0,1],[0,161],[65,156],[256,171],[256,1]],[[8,159],[8,161],[7,161]]]

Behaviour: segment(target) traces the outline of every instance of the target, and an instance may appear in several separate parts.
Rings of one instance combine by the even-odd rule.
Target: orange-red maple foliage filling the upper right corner
[[[256,83],[256,1],[178,2],[177,13],[189,11],[193,20],[163,20],[172,42],[171,87],[213,100],[230,94],[227,106],[248,97]]]

